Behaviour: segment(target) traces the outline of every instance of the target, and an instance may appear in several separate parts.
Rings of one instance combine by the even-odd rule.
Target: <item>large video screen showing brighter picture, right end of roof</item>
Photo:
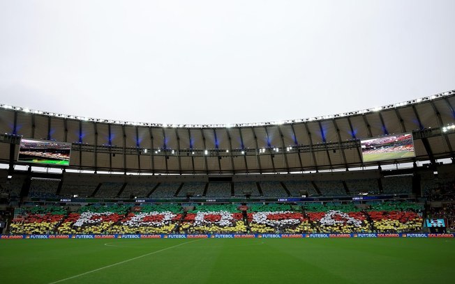
[[[362,140],[360,143],[364,162],[415,157],[414,141],[410,133],[382,136]]]

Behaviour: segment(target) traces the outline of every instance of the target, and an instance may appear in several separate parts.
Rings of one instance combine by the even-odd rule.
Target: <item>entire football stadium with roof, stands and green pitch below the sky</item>
[[[158,125],[0,104],[3,281],[447,282],[454,106],[450,90],[279,123]]]

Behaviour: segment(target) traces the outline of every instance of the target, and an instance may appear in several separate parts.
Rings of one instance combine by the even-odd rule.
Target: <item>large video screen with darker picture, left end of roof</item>
[[[70,153],[71,143],[22,138],[17,161],[68,166]]]

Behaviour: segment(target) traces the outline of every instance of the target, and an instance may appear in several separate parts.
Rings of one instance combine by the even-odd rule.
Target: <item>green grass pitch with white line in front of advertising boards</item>
[[[2,283],[450,283],[455,239],[9,239]]]

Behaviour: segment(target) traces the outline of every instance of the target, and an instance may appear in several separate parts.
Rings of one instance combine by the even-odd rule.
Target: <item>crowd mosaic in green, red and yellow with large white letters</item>
[[[12,234],[417,232],[422,204],[86,205],[18,208]],[[434,211],[453,227],[454,207]]]

